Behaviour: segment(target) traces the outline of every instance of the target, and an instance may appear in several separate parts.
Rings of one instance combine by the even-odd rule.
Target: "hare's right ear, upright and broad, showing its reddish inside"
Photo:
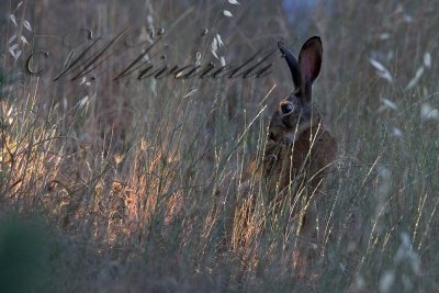
[[[311,101],[313,82],[322,68],[323,47],[318,36],[308,38],[299,54],[300,92],[305,101]]]

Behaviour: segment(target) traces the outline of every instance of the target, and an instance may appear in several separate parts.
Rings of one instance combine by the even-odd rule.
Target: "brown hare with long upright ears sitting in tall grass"
[[[333,165],[337,143],[312,102],[312,88],[322,67],[323,47],[318,36],[308,38],[295,56],[278,43],[293,77],[295,90],[271,116],[263,154],[263,177],[279,191],[294,181],[314,193]],[[297,191],[296,191],[297,192]]]

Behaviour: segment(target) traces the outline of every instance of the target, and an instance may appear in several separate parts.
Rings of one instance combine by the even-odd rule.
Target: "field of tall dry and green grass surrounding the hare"
[[[54,2],[0,3],[1,291],[439,291],[439,1]],[[54,80],[127,27],[102,64]],[[219,67],[312,35],[338,156],[300,277],[295,217],[260,191],[236,217],[293,89],[280,54],[261,78],[114,79],[157,41],[144,66]]]

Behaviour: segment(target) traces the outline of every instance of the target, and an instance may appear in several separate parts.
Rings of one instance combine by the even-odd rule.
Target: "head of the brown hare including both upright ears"
[[[269,138],[274,142],[291,140],[285,137],[288,132],[300,132],[320,121],[320,116],[312,103],[313,82],[318,77],[322,67],[320,38],[313,36],[303,44],[299,61],[282,42],[279,42],[278,46],[290,68],[295,90],[280,102],[271,117]]]

